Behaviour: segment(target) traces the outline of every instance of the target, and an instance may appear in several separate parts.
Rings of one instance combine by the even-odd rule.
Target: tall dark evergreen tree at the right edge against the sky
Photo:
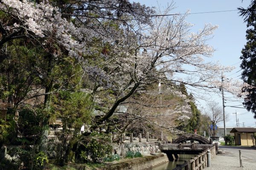
[[[256,118],[256,0],[251,0],[248,8],[238,8],[240,16],[244,17],[244,22],[247,23],[246,40],[240,59],[242,72],[242,79],[253,88],[245,87],[244,92],[248,94],[244,98],[244,106],[247,111],[254,113]]]

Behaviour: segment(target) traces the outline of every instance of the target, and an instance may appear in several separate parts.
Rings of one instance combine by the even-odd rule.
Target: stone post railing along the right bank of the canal
[[[216,155],[215,145],[211,145],[212,147],[208,148],[211,153],[211,159]],[[189,161],[185,161],[183,164],[177,164],[173,170],[189,170],[191,166],[191,170],[203,170],[207,167],[207,151],[203,151],[202,153],[195,155],[195,157],[191,157]]]

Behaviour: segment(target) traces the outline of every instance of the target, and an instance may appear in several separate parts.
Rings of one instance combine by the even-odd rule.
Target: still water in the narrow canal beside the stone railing
[[[154,167],[152,170],[172,170],[176,167],[176,164],[183,164],[185,160],[188,161],[191,159],[191,157],[194,157],[194,156],[195,155],[180,154],[179,159],[174,160],[174,161],[169,161],[164,164],[160,164],[159,166]]]

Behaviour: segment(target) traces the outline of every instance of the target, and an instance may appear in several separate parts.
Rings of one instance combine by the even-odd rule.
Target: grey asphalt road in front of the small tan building
[[[241,150],[242,161],[256,162],[256,149],[252,147],[243,146],[219,146],[219,149],[225,151],[225,156],[239,157],[239,150]]]

